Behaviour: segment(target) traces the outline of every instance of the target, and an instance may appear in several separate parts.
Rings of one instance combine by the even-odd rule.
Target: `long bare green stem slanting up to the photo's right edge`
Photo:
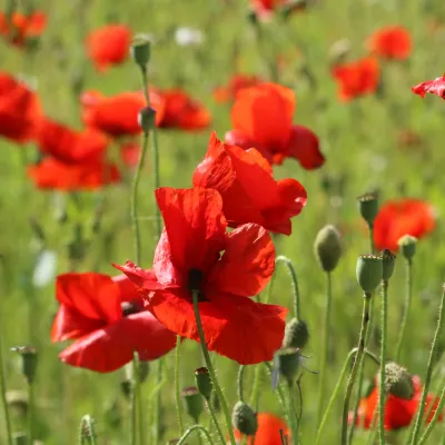
[[[428,358],[428,366],[426,368],[424,389],[422,392],[421,403],[418,404],[418,408],[417,408],[416,423],[415,423],[414,431],[411,436],[412,445],[417,444],[417,439],[421,434],[421,427],[423,424],[424,413],[425,413],[426,397],[428,395],[429,384],[431,384],[432,374],[433,374],[433,365],[434,365],[434,360],[436,358],[437,349],[439,347],[439,338],[442,336],[444,325],[445,325],[445,286],[443,287],[443,291],[442,291],[437,327],[436,327],[436,332],[434,333],[433,344],[432,344],[432,347],[429,350],[429,358]]]

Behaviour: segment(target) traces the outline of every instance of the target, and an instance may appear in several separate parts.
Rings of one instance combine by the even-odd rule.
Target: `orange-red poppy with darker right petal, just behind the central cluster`
[[[294,91],[277,83],[240,90],[231,108],[234,130],[226,134],[226,142],[244,149],[255,147],[273,164],[291,157],[305,169],[320,167],[325,158],[316,135],[293,126],[295,105]]]

